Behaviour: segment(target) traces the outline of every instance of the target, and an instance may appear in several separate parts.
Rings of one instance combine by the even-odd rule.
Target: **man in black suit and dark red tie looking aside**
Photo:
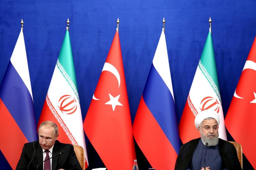
[[[41,123],[38,137],[38,141],[24,144],[16,170],[36,170],[38,164],[38,170],[82,170],[73,145],[57,140],[59,132],[54,122]],[[45,159],[49,160],[40,163]]]

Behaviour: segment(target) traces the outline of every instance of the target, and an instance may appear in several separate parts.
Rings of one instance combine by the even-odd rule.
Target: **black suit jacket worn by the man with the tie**
[[[35,150],[34,150],[35,147]],[[35,155],[33,157],[33,153]],[[74,151],[74,147],[71,144],[62,144],[56,140],[52,156],[55,156],[63,152],[63,154],[52,158],[52,170],[65,169],[65,170],[82,170]],[[33,158],[33,159],[32,159]],[[32,160],[32,161],[31,161]],[[29,164],[29,162],[31,163]],[[36,170],[36,166],[43,161],[43,150],[38,141],[26,143],[23,146],[20,160],[16,167],[16,170]],[[43,170],[43,163],[38,166],[38,170]]]

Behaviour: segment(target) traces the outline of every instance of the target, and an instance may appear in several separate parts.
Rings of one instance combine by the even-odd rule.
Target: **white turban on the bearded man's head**
[[[198,115],[196,115],[195,126],[196,126],[197,130],[199,130],[198,126],[204,121],[204,119],[206,119],[208,117],[215,119],[219,126],[220,115],[217,112],[215,112],[214,110],[204,110],[204,111],[200,112]]]

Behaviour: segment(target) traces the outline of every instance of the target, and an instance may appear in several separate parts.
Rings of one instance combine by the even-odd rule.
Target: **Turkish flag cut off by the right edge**
[[[256,37],[225,118],[226,127],[256,169]]]

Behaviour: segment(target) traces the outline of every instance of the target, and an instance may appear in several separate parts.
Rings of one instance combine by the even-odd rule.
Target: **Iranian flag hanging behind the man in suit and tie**
[[[44,107],[38,122],[55,122],[59,127],[58,140],[62,143],[80,145],[84,148],[85,168],[88,167],[83,121],[76,84],[76,74],[67,30]]]

